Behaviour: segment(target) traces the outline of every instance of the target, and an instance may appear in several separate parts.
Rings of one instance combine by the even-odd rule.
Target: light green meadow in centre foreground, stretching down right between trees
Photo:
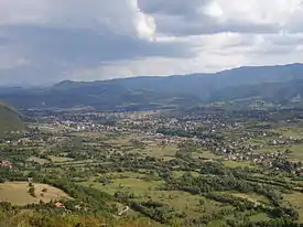
[[[176,177],[183,172],[175,171],[173,173]],[[198,175],[197,173],[193,173]],[[109,176],[111,183],[104,185],[102,183],[94,182],[91,179],[83,183],[85,186],[90,186],[113,195],[116,192],[132,192],[137,197],[133,201],[155,201],[167,204],[178,212],[184,212],[187,218],[202,217],[205,214],[215,214],[227,205],[207,199],[198,195],[192,195],[186,192],[180,191],[159,191],[158,188],[163,185],[162,181],[144,181],[140,180],[147,176],[144,173],[123,172],[123,173],[107,173],[102,176]],[[123,179],[119,179],[123,177]],[[230,206],[229,206],[230,207]],[[231,208],[231,207],[230,207]]]

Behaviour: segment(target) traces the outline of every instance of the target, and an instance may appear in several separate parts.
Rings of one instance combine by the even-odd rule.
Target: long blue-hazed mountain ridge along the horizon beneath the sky
[[[64,80],[47,88],[3,88],[0,90],[0,99],[19,108],[90,106],[102,110],[147,110],[192,107],[203,101],[250,96],[279,101],[283,98],[280,91],[293,98],[295,93],[289,90],[292,84],[288,83],[297,80],[303,80],[303,64],[248,66],[213,74],[167,77]]]

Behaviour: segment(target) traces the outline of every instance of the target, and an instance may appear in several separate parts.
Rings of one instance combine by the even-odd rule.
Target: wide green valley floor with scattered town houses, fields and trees
[[[302,114],[24,110],[28,129],[1,140],[0,188],[29,184],[22,206],[77,214],[111,204],[120,218],[163,225],[303,221]]]

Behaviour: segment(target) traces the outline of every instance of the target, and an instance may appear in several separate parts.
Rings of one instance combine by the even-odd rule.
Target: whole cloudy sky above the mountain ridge
[[[303,0],[0,0],[0,85],[303,60]]]

